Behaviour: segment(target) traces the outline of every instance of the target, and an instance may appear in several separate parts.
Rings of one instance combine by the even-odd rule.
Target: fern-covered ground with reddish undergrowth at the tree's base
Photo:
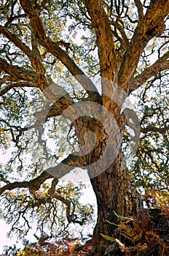
[[[68,240],[66,247],[57,249],[47,243],[45,238],[39,244],[29,247],[31,250],[19,252],[16,256],[168,256],[169,255],[169,209],[142,209],[138,218],[124,221],[117,227],[122,242],[110,241],[105,252],[100,252],[99,241],[91,238],[85,244]],[[115,233],[115,232],[114,232]],[[105,239],[105,244],[109,238]],[[121,244],[120,244],[121,243]]]

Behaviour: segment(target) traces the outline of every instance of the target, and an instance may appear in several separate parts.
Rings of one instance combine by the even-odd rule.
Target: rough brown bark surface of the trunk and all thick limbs
[[[52,102],[52,107],[47,108],[46,112],[41,110],[35,113],[37,122],[52,116],[67,118],[72,121],[81,146],[79,152],[69,154],[60,164],[49,167],[31,181],[8,182],[1,187],[0,194],[7,189],[17,187],[28,188],[34,194],[48,178],[55,177],[54,181],[58,181],[58,178],[73,170],[74,167],[87,168],[98,203],[98,220],[93,233],[93,255],[117,255],[119,250],[116,251],[115,247],[114,252],[109,254],[107,248],[110,243],[101,234],[119,238],[119,230],[109,222],[117,225],[120,222],[117,216],[136,217],[138,211],[137,193],[122,154],[122,135],[125,124],[127,124],[121,114],[122,105],[131,91],[138,89],[154,74],[169,68],[169,52],[166,52],[152,66],[144,69],[140,75],[135,75],[138,61],[146,45],[150,39],[159,36],[165,30],[164,19],[168,15],[169,1],[150,1],[145,14],[141,1],[135,0],[134,2],[138,8],[138,20],[135,22],[133,37],[128,39],[121,21],[115,22],[110,18],[106,7],[103,7],[103,1],[84,1],[85,12],[90,15],[90,27],[95,30],[96,35],[102,95],[98,93],[92,80],[84,74],[74,59],[60,48],[58,42],[50,38],[39,12],[34,8],[33,1],[20,0],[24,17],[30,21],[31,47],[22,42],[17,34],[13,34],[8,26],[0,26],[1,34],[28,58],[33,68],[27,70],[0,58],[0,71],[2,75],[6,74],[1,78],[1,84],[6,83],[6,86],[0,89],[0,96],[3,97],[15,87],[39,89],[50,103]],[[121,8],[124,9],[124,1],[121,3]],[[112,12],[112,6],[110,9]],[[117,8],[118,15],[120,13]],[[115,37],[119,38],[121,48],[116,46]],[[74,99],[65,89],[55,83],[50,75],[47,75],[43,62],[44,56],[39,52],[38,44],[47,50],[47,53],[61,61],[81,84],[88,94],[86,104],[80,102],[80,105],[74,106]],[[142,132],[147,130],[141,128]],[[20,135],[24,129],[17,128],[17,132]],[[13,138],[13,141],[17,146],[16,138]],[[55,186],[53,187],[49,195],[66,203],[68,211],[66,216],[68,222],[71,222],[70,203],[55,194]]]

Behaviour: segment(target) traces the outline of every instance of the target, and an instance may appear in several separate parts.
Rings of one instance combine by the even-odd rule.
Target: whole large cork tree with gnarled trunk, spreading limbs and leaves
[[[28,229],[29,213],[52,228],[60,203],[63,222],[83,225],[92,209],[79,188],[58,187],[80,170],[98,206],[93,254],[104,255],[103,236],[119,239],[122,217],[137,217],[135,184],[166,191],[168,10],[168,0],[2,2],[0,194],[15,225]]]

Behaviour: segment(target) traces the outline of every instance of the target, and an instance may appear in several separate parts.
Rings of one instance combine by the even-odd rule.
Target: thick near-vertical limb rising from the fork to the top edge
[[[117,59],[109,18],[103,9],[101,0],[85,0],[84,2],[97,37],[101,77],[114,80],[117,70]]]

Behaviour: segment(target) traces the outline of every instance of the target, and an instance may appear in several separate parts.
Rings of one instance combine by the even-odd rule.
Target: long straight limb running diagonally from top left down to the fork
[[[71,74],[74,75],[76,80],[78,80],[87,91],[87,94],[89,94],[91,100],[95,102],[100,101],[101,97],[98,94],[98,90],[90,78],[87,78],[87,76],[84,75],[84,72],[82,72],[82,70],[75,64],[74,60],[68,56],[68,53],[60,48],[57,42],[53,42],[52,39],[50,39],[50,37],[47,35],[47,31],[44,28],[44,23],[39,17],[38,13],[34,10],[34,7],[31,5],[31,1],[20,0],[20,4],[23,7],[25,14],[28,15],[28,18],[30,19],[31,27],[34,29],[34,34],[38,42],[67,67]]]

